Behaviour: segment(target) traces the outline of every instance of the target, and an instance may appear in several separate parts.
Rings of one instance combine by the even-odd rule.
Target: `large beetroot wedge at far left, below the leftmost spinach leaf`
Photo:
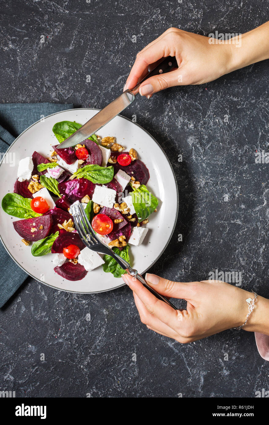
[[[41,215],[40,217],[26,218],[26,220],[17,220],[13,221],[13,226],[21,238],[35,242],[46,238],[51,233],[52,217],[50,215]],[[31,229],[36,230],[31,232]]]

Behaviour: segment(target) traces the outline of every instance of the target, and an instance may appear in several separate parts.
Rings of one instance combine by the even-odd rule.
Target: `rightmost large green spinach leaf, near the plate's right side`
[[[157,208],[158,200],[149,192],[144,184],[141,184],[137,189],[131,192],[132,203],[137,214],[139,223],[146,218]]]

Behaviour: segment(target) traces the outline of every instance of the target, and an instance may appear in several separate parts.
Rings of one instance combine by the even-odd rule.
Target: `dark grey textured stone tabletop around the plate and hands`
[[[170,26],[243,33],[269,19],[266,4],[1,0],[0,102],[103,108],[137,51]],[[243,287],[269,297],[269,165],[255,164],[256,149],[268,150],[268,106],[265,61],[138,98],[124,111],[161,144],[178,181],[177,229],[152,272],[189,281],[239,271]],[[228,330],[180,345],[140,323],[128,288],[74,295],[29,279],[0,312],[0,359],[0,387],[17,397],[254,397],[269,389],[254,334]]]

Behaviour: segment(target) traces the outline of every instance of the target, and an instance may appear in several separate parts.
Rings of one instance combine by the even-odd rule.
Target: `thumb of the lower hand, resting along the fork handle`
[[[166,297],[181,298],[184,300],[188,300],[191,297],[191,289],[188,283],[174,282],[173,280],[160,278],[160,276],[150,273],[146,273],[145,279],[155,291]]]

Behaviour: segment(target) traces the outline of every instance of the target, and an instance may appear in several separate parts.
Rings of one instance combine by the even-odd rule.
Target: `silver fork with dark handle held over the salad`
[[[172,303],[170,303],[170,301],[167,300],[166,297],[163,297],[163,295],[158,294],[158,292],[156,292],[154,289],[152,289],[151,286],[148,285],[146,280],[142,278],[142,276],[137,272],[137,270],[133,269],[130,266],[128,261],[124,260],[124,258],[121,258],[119,255],[117,255],[116,252],[112,251],[109,246],[106,246],[97,238],[92,228],[92,225],[90,224],[87,218],[84,208],[79,201],[76,201],[74,202],[74,204],[71,205],[69,212],[72,214],[74,224],[76,226],[78,234],[80,235],[81,240],[86,246],[88,246],[88,248],[92,249],[93,251],[101,252],[102,254],[110,255],[112,258],[114,258],[114,260],[117,261],[117,263],[123,270],[126,270],[128,275],[132,276],[134,279],[139,280],[149,290],[149,292],[151,292],[153,295],[155,295],[156,298],[158,298],[158,300],[164,301],[166,304],[176,310],[176,307]]]

